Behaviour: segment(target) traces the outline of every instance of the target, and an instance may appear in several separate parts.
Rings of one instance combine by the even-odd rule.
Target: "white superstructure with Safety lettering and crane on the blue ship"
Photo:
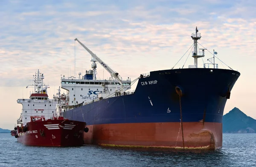
[[[111,69],[98,56],[91,52],[84,44],[78,41],[87,52],[92,56],[92,70],[86,71],[81,77],[61,77],[61,88],[68,91],[65,96],[64,105],[76,105],[83,103],[87,104],[99,98],[109,98],[117,95],[129,94],[127,90],[131,89],[131,78],[122,79],[120,75]],[[110,78],[99,79],[96,77],[96,62],[99,62],[111,75]],[[125,92],[126,91],[126,92]]]

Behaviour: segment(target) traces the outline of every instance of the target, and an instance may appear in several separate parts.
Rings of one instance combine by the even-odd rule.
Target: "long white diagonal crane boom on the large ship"
[[[77,38],[75,39],[78,43],[80,43],[81,46],[84,47],[85,50],[87,50],[87,52],[90,53],[90,55],[92,55],[93,58],[95,58],[109,73],[110,75],[115,78],[122,86],[122,81],[120,80],[120,75],[118,75],[117,72],[115,72],[113,69],[111,69],[109,66],[107,66],[106,63],[104,63],[98,56],[96,56],[92,51],[90,51],[90,49],[88,49],[86,46],[84,46],[83,43],[81,43]]]

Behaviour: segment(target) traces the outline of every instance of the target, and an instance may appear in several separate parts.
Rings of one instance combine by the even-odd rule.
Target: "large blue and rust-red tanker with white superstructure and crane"
[[[68,91],[66,118],[87,122],[86,144],[128,147],[217,149],[222,147],[222,116],[230,91],[240,76],[233,69],[219,69],[217,52],[198,68],[201,33],[191,35],[194,64],[189,68],[152,71],[122,79],[78,39],[92,55],[92,70],[79,78],[61,77]],[[110,74],[96,78],[96,61]],[[135,91],[131,85],[137,81]]]

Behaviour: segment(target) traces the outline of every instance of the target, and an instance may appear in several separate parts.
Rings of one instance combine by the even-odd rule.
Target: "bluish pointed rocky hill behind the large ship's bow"
[[[223,115],[223,133],[255,133],[256,120],[238,108]]]

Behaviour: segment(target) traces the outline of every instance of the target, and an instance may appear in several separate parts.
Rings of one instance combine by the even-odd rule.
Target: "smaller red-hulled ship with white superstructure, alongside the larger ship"
[[[84,144],[84,131],[88,132],[86,123],[72,121],[62,116],[60,88],[53,99],[47,95],[48,85],[43,85],[44,74],[33,75],[34,83],[29,99],[18,99],[22,112],[15,127],[17,141],[29,146],[81,146]],[[27,87],[28,87],[27,86]]]

